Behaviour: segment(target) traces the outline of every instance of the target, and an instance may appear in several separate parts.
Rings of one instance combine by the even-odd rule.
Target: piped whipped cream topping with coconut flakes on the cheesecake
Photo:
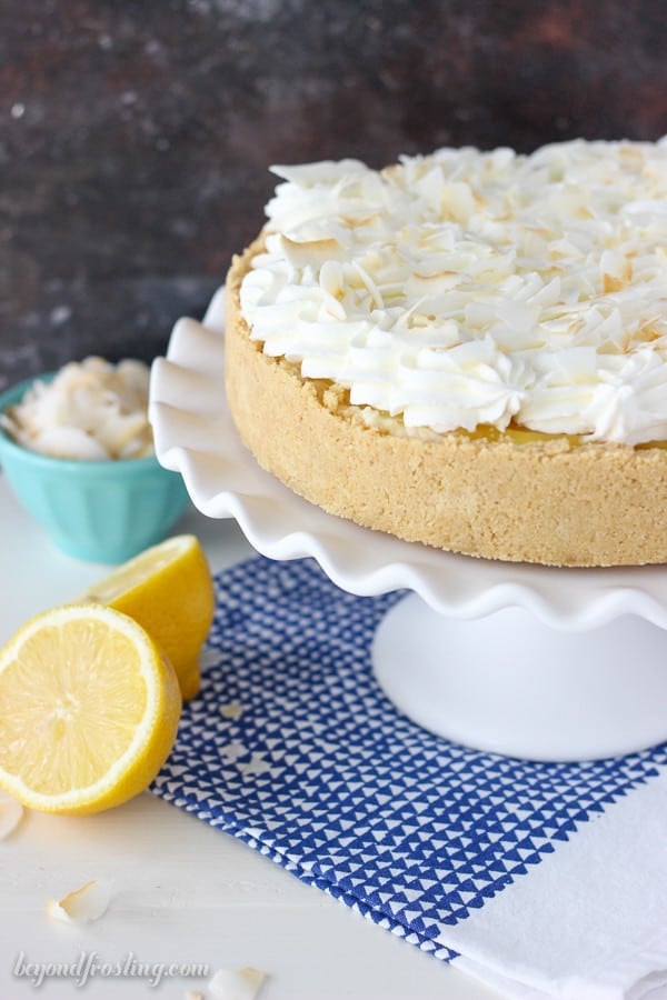
[[[272,170],[267,354],[408,431],[667,439],[667,137]]]

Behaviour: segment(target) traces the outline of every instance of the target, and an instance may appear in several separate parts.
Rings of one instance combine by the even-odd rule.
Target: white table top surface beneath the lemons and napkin
[[[192,532],[211,568],[252,550],[231,521],[190,510],[173,533]],[[77,597],[107,567],[60,553],[19,507],[0,474],[0,644],[30,616]],[[84,928],[49,918],[46,901],[97,878],[115,883],[107,913]],[[30,812],[0,842],[0,997],[34,996],[26,962],[170,962],[209,976],[91,980],[83,996],[183,998],[216,969],[268,973],[261,1000],[492,1000],[490,990],[323,892],[298,881],[231,836],[148,792],[86,818]],[[21,967],[21,956],[23,966]],[[132,967],[132,960],[135,964]],[[149,970],[146,969],[146,972]],[[49,997],[81,996],[73,978],[50,978]]]

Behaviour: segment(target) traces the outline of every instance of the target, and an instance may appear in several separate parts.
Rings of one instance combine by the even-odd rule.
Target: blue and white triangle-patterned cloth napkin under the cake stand
[[[667,997],[667,746],[575,764],[462,748],[371,674],[401,593],[261,557],[216,582],[156,794],[510,997]]]

